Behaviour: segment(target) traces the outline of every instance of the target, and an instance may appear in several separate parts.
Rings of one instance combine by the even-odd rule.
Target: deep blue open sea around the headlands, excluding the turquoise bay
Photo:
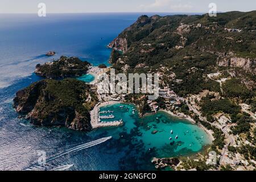
[[[115,138],[81,151],[75,148],[75,152],[51,160],[51,164],[74,164],[72,170],[154,169],[150,164],[154,150],[147,151],[150,143],[138,138],[134,143],[129,138],[137,136],[136,127],[133,128],[136,135],[126,132],[126,127],[89,134],[58,127],[36,127],[19,119],[12,108],[16,91],[41,79],[33,74],[36,64],[61,55],[77,56],[94,65],[107,64],[111,50],[106,45],[139,15],[48,14],[39,18],[36,14],[0,14],[0,170],[30,168],[37,163],[40,151],[50,158],[112,134]],[[57,54],[44,56],[48,51]],[[127,122],[137,125],[136,119]],[[199,143],[197,150],[203,146]]]

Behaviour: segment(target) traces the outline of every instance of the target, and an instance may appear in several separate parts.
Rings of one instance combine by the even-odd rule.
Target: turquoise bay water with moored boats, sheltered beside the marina
[[[138,111],[134,109],[135,106],[132,104],[102,107],[100,111],[114,111],[111,114],[115,116],[113,119],[102,119],[102,121],[109,122],[122,118],[125,124],[118,128],[99,131],[104,130],[115,139],[131,140],[134,145],[142,144],[141,151],[153,151],[154,156],[158,158],[192,155],[211,143],[207,133],[189,121],[172,117],[163,111],[139,118]],[[152,134],[152,131],[158,132]],[[124,133],[120,136],[122,132]],[[175,139],[176,135],[177,139]],[[171,140],[170,137],[172,137]]]

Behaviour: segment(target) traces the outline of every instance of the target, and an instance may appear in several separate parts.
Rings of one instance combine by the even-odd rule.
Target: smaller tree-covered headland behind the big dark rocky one
[[[89,63],[77,57],[61,56],[59,60],[36,65],[36,75],[45,78],[66,78],[82,76],[88,71]]]

